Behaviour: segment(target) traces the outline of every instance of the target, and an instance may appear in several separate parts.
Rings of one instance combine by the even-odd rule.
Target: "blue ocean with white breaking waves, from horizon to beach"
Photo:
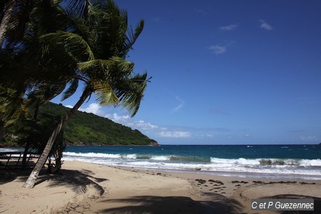
[[[63,160],[237,177],[321,180],[321,145],[67,146]]]

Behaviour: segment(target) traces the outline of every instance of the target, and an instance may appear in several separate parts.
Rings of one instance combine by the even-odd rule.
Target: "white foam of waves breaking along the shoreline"
[[[174,158],[173,158],[174,157]],[[195,159],[181,156],[148,156],[138,154],[104,153],[63,153],[66,161],[85,161],[106,165],[121,165],[136,168],[156,168],[169,170],[203,170],[230,173],[265,173],[273,175],[312,175],[321,178],[321,159],[227,159],[210,158],[208,163],[198,163]],[[194,162],[193,162],[194,161]]]

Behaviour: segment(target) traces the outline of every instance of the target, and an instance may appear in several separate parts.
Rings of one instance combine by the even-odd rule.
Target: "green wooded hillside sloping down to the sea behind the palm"
[[[39,118],[64,116],[70,108],[55,103],[41,106]],[[68,145],[154,145],[156,141],[140,131],[93,113],[77,111],[66,124],[63,138]]]

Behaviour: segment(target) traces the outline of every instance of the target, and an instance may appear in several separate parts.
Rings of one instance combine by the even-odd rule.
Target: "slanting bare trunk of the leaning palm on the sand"
[[[56,140],[56,137],[58,136],[58,133],[61,131],[61,128],[66,124],[66,122],[73,116],[74,113],[78,110],[78,108],[81,107],[84,101],[86,101],[86,98],[91,95],[91,90],[89,88],[86,88],[83,91],[83,94],[79,98],[78,102],[75,106],[71,109],[71,111],[64,117],[61,118],[61,121],[58,123],[58,126],[54,129],[53,133],[51,133],[51,136],[46,144],[46,147],[44,148],[44,151],[41,153],[41,156],[36,163],[34,170],[32,170],[31,174],[29,175],[28,180],[26,180],[26,183],[24,183],[24,188],[34,188],[34,185],[36,183],[36,179],[38,178],[38,175],[40,173],[41,168],[46,163],[46,160],[49,156],[49,153],[51,151],[52,146],[54,146],[54,142]]]

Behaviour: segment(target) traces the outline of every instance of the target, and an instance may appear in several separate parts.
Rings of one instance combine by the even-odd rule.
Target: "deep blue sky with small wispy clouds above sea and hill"
[[[82,111],[161,144],[321,142],[321,1],[116,3],[146,21],[128,60],[153,78],[134,118],[95,98]]]

